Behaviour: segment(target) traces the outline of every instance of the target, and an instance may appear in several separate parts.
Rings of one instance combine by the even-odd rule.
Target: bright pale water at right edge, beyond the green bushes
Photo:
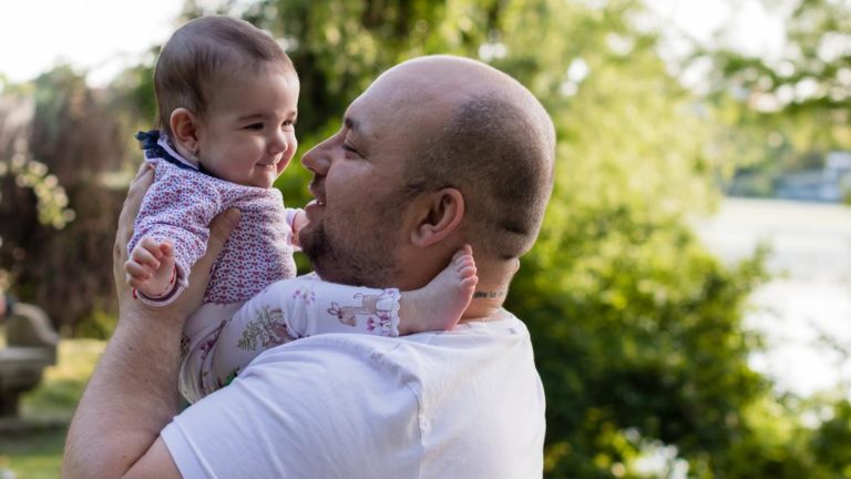
[[[773,279],[753,292],[745,320],[768,346],[751,367],[802,396],[851,384],[851,207],[727,198],[696,231],[726,262],[772,248]]]

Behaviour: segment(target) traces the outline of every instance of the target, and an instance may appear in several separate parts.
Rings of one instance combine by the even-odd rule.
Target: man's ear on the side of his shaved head
[[[464,217],[464,196],[453,187],[427,195],[422,206],[411,231],[411,243],[420,247],[441,242],[458,230]]]

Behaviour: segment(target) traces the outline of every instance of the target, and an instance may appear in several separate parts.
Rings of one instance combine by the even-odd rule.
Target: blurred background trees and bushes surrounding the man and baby
[[[773,196],[851,150],[851,2],[761,0],[785,27],[773,57],[726,42],[740,24],[674,35],[653,3],[188,0],[176,20],[228,13],[280,39],[301,79],[300,152],[416,55],[481,59],[541,99],[556,184],[509,308],[545,384],[546,477],[851,478],[848,386],[801,397],[749,365],[765,344],[744,318],[769,252],[725,263],[691,227],[731,188]],[[132,133],[154,116],[155,52],[96,88],[71,65],[0,79],[0,287],[64,338],[24,419],[68,420],[114,327],[109,254],[141,157]],[[294,164],[277,186],[299,205],[308,180]],[[0,471],[54,477],[63,435],[0,437]]]

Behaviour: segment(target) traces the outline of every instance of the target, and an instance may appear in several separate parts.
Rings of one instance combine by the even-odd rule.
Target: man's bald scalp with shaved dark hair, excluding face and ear
[[[516,80],[457,57],[407,61],[373,86],[382,88],[386,79],[404,84],[399,81],[404,77],[410,80],[404,102],[419,106],[398,111],[442,113],[429,115],[434,134],[424,134],[406,162],[410,195],[459,188],[466,206],[464,233],[476,257],[520,257],[537,237],[553,186],[555,132],[546,111]]]

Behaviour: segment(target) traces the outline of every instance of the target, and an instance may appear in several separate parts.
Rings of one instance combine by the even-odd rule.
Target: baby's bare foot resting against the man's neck
[[[473,249],[464,245],[429,284],[401,293],[399,334],[452,329],[470,305],[478,283]]]

